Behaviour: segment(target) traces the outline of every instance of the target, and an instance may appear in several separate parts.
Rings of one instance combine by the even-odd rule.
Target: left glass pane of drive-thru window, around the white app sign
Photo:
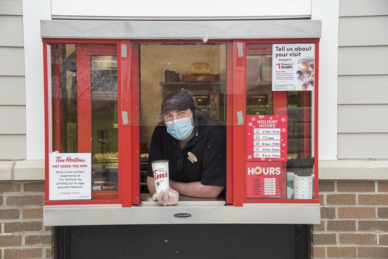
[[[92,199],[118,198],[116,45],[49,44],[52,152],[91,153]]]

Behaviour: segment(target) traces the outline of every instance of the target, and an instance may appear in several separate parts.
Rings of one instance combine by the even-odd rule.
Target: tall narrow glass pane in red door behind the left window
[[[117,190],[117,56],[91,55],[90,58],[94,189]]]

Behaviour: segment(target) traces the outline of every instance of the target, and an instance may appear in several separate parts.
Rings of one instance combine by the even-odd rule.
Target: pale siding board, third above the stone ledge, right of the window
[[[339,76],[338,104],[388,104],[388,75]]]

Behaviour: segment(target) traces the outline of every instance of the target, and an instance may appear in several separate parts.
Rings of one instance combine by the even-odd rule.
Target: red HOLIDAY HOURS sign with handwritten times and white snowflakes
[[[287,115],[247,115],[246,122],[246,161],[287,161]]]

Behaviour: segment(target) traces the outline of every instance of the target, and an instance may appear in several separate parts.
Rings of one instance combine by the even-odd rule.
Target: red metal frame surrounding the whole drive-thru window
[[[202,43],[201,40],[95,40],[95,39],[43,39],[44,68],[44,105],[45,105],[45,205],[81,205],[81,204],[122,204],[123,207],[140,204],[139,189],[139,71],[138,48],[132,43]],[[246,199],[245,183],[245,124],[237,125],[237,116],[246,111],[246,44],[276,43],[314,43],[315,44],[315,92],[314,92],[314,157],[318,164],[318,69],[319,39],[265,39],[265,40],[210,40],[209,43],[226,43],[227,57],[227,110],[226,110],[226,203],[239,207],[244,203],[319,203],[318,199],[318,166],[314,167],[314,199],[311,200],[275,200]],[[118,199],[100,200],[49,200],[49,99],[48,99],[48,59],[47,44],[49,43],[84,43],[84,44],[116,44],[117,51],[117,98],[118,98],[118,148],[119,148],[119,190]],[[243,56],[239,57],[237,45],[242,43]],[[127,49],[127,57],[121,57],[121,50]],[[93,51],[93,50],[92,50]],[[55,71],[53,71],[55,73]],[[55,82],[54,82],[55,83]],[[53,95],[56,93],[53,92]],[[308,93],[306,93],[308,94]],[[273,92],[273,110],[277,114],[287,113],[287,92]],[[231,104],[231,105],[230,105]],[[121,111],[127,111],[129,123],[123,125]],[[54,114],[60,116],[60,113]],[[54,127],[54,130],[56,127]],[[305,128],[305,132],[310,129]],[[59,140],[54,140],[59,145]],[[309,143],[305,143],[309,146]],[[135,148],[133,148],[133,146]],[[86,150],[84,151],[86,152]],[[90,151],[88,151],[90,152]]]

